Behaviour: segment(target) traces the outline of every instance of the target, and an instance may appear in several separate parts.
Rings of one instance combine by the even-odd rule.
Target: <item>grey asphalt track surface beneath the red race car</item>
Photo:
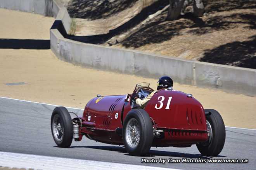
[[[0,151],[83,160],[98,160],[183,170],[256,169],[256,130],[226,128],[226,142],[218,157],[202,156],[196,146],[190,148],[151,148],[145,157],[130,156],[123,146],[107,145],[83,138],[71,148],[58,148],[52,139],[50,117],[54,105],[0,97]],[[83,110],[68,108],[81,115]],[[140,163],[154,159],[249,159],[248,163]],[[121,168],[121,167],[120,167]]]

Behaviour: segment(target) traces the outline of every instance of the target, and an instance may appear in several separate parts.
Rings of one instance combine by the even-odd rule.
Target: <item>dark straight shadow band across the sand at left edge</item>
[[[50,49],[50,40],[0,39],[0,49]]]

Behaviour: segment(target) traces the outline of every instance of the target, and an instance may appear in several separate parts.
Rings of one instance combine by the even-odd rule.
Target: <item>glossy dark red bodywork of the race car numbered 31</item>
[[[161,96],[165,98],[163,107],[156,109],[156,105],[160,105]],[[169,97],[172,99],[168,109],[166,105]],[[114,95],[90,100],[81,117],[83,127],[80,133],[103,143],[123,145],[118,129],[120,131],[123,127],[125,117],[131,110],[130,102],[126,102],[125,99],[126,95]],[[145,110],[152,118],[153,127],[157,130],[162,129],[164,133],[163,138],[154,138],[152,146],[186,147],[208,140],[204,109],[194,97],[187,97],[186,93],[159,90],[149,100]]]

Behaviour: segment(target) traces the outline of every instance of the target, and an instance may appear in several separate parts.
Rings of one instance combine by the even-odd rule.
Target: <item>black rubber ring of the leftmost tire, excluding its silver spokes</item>
[[[54,134],[54,120],[57,119],[62,127],[61,139]],[[55,143],[62,148],[69,148],[73,139],[73,123],[71,116],[65,107],[55,107],[51,118],[52,137]],[[59,132],[59,131],[58,131]],[[61,134],[61,133],[59,133]]]

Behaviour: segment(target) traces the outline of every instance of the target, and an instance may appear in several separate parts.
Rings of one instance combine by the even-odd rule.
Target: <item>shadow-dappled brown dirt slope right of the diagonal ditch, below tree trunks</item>
[[[256,1],[232,1],[226,7],[225,1],[218,2],[209,2],[208,15],[202,18],[195,18],[188,8],[180,19],[166,21],[166,11],[116,46],[256,68]]]

